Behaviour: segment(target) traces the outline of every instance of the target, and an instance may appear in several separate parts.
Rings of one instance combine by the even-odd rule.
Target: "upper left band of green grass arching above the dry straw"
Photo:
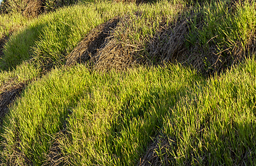
[[[136,29],[143,29],[143,32],[140,30],[134,33],[137,34],[136,39],[140,39],[143,36],[138,37],[138,35],[152,36],[156,33],[158,22],[162,18],[173,19],[181,9],[167,1],[140,6],[136,6],[135,3],[100,1],[62,8],[39,16],[19,33],[12,35],[3,50],[5,56],[0,66],[3,69],[14,68],[28,59],[36,59],[38,64],[50,67],[63,64],[66,55],[95,26],[116,16],[133,17],[137,12],[143,12],[143,19],[134,22]],[[145,21],[154,25],[145,27]]]

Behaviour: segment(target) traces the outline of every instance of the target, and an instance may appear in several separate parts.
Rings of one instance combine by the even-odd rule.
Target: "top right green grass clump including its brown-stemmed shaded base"
[[[210,1],[192,10],[187,46],[197,51],[194,56],[201,54],[206,71],[220,71],[248,56],[256,31],[255,7],[255,1]]]

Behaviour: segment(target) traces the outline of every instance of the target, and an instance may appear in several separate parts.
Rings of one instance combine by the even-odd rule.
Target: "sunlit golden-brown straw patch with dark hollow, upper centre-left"
[[[116,39],[115,28],[127,21],[129,17],[114,18],[92,30],[67,56],[66,65],[87,62],[92,68],[105,71],[111,68],[125,70],[136,64],[135,53],[139,46]],[[125,39],[127,35],[121,34],[119,37]]]

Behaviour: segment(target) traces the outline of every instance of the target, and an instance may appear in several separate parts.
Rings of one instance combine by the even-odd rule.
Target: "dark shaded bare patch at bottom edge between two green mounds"
[[[147,147],[144,156],[140,158],[137,166],[160,166],[170,165],[167,149],[170,148],[170,142],[167,138],[157,136],[154,142]]]

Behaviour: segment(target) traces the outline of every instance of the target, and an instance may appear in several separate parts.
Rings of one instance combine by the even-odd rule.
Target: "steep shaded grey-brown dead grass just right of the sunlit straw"
[[[185,62],[188,49],[185,47],[185,35],[188,34],[188,21],[177,21],[176,25],[162,26],[147,46],[149,59],[156,62]]]

